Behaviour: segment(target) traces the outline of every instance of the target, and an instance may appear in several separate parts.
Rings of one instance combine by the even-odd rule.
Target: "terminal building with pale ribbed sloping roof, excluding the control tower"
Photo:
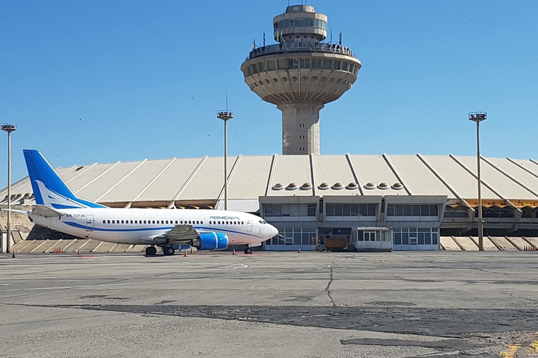
[[[346,238],[345,250],[380,250],[391,239],[393,250],[439,250],[440,236],[476,235],[475,157],[240,155],[228,157],[228,168],[228,209],[257,213],[280,231],[265,250],[324,248],[333,237]],[[538,236],[538,162],[483,157],[481,171],[484,234]],[[224,206],[222,157],[77,165],[57,172],[78,196],[106,206]],[[0,191],[0,206],[6,194]],[[12,185],[11,203],[32,206],[29,178]],[[6,217],[1,220],[4,226]]]

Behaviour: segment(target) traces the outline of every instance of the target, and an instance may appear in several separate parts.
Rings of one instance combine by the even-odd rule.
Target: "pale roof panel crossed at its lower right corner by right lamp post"
[[[460,164],[445,155],[422,155],[430,166],[446,180],[462,199],[478,198],[478,185],[474,176],[466,171]],[[476,159],[474,159],[476,161]],[[488,182],[486,180],[486,182]],[[483,199],[502,199],[490,189],[482,185]]]

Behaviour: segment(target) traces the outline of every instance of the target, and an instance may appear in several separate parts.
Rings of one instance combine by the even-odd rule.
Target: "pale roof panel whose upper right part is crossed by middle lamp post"
[[[228,157],[228,173],[237,157]],[[229,175],[229,174],[228,174]],[[224,187],[224,159],[212,157],[202,164],[193,180],[187,185],[179,200],[216,200]]]

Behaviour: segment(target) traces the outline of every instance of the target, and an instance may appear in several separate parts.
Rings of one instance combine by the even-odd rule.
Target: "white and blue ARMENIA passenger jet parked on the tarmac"
[[[166,256],[176,248],[224,250],[228,245],[252,246],[277,236],[278,230],[249,213],[205,209],[109,208],[78,198],[39,150],[23,150],[36,205],[26,213],[35,224],[81,238],[109,243],[157,247]]]

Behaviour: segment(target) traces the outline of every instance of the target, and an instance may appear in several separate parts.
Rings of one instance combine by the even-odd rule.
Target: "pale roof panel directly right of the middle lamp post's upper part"
[[[257,199],[265,195],[272,161],[271,155],[241,157],[233,178],[228,182],[228,199]],[[221,193],[220,199],[223,197]]]

